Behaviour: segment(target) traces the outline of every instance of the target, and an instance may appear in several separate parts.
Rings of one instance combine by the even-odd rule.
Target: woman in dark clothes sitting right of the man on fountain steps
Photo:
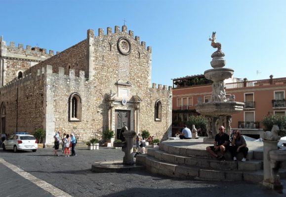
[[[246,162],[246,156],[248,153],[248,148],[245,140],[245,136],[240,133],[239,130],[233,131],[233,138],[231,141],[231,155],[233,157],[233,161],[237,161],[237,153],[242,152],[244,154],[244,158],[242,162]]]

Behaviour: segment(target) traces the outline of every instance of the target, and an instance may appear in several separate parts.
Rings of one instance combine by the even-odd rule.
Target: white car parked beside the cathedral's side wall
[[[17,152],[18,150],[32,150],[36,152],[38,149],[38,141],[33,135],[24,134],[21,132],[20,134],[16,132],[16,134],[11,135],[8,139],[4,140],[2,143],[3,150],[14,150]]]

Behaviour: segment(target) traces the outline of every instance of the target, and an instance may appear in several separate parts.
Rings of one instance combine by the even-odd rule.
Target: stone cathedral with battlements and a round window
[[[87,30],[86,39],[54,55],[0,38],[0,133],[37,129],[53,144],[56,131],[78,141],[102,139],[106,129],[118,138],[148,130],[171,134],[172,89],[151,84],[152,49],[124,25]]]

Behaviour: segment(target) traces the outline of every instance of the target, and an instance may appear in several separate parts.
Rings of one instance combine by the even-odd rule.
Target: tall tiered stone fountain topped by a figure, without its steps
[[[218,133],[219,126],[224,126],[227,134],[231,134],[231,117],[243,110],[244,103],[236,102],[234,95],[229,100],[226,99],[224,80],[231,78],[234,70],[224,68],[226,65],[225,54],[221,50],[221,43],[216,42],[216,32],[212,33],[209,40],[211,46],[217,48],[217,51],[211,55],[210,65],[213,68],[204,71],[205,78],[213,81],[212,94],[208,102],[196,104],[196,111],[206,117],[206,133],[211,140]]]

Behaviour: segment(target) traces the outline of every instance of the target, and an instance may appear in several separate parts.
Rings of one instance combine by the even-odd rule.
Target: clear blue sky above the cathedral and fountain
[[[152,83],[203,74],[216,32],[234,77],[286,77],[286,0],[0,0],[0,35],[63,51],[88,29],[123,26],[152,47]],[[96,34],[97,35],[97,34]]]

